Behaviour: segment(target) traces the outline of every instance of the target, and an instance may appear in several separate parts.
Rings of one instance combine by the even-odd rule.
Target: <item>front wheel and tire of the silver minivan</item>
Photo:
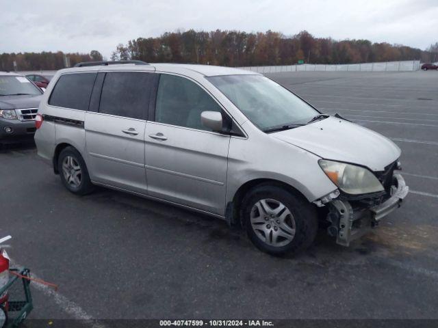
[[[241,217],[250,241],[272,255],[307,249],[318,231],[315,206],[272,184],[261,184],[244,197]]]

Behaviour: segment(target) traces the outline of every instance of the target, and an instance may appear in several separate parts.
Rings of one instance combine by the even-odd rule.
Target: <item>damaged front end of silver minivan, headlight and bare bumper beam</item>
[[[381,172],[337,161],[320,160],[320,166],[339,189],[313,202],[325,207],[327,232],[336,243],[349,246],[400,207],[409,187],[398,171],[399,161]]]

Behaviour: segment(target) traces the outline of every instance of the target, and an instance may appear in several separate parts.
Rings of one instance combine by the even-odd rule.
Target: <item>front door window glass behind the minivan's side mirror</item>
[[[222,112],[218,103],[196,83],[170,74],[159,78],[155,121],[210,131],[201,123],[203,111]]]

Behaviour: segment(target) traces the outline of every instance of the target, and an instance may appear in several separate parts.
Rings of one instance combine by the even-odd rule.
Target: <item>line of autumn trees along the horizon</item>
[[[66,63],[68,57],[69,63]],[[426,51],[369,40],[315,38],[307,31],[294,36],[266,31],[176,31],[157,38],[137,38],[118,44],[112,60],[138,59],[147,62],[197,63],[221,66],[355,64],[378,61],[438,61],[438,42]],[[102,60],[99,51],[83,53],[3,53],[0,70],[57,70],[79,61]],[[67,65],[68,66],[68,65]]]

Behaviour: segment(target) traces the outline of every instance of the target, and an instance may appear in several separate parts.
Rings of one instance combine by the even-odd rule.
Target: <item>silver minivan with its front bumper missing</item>
[[[35,135],[72,193],[99,185],[214,215],[270,254],[305,249],[318,227],[348,246],[408,193],[392,141],[261,74],[77,66],[53,77]]]

